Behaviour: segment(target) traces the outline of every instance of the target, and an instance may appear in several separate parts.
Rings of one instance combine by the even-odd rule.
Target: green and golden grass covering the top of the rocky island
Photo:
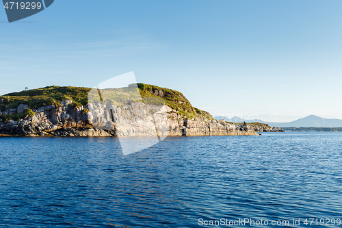
[[[159,91],[162,92],[162,97],[157,96],[157,93],[160,94]],[[73,107],[81,107],[82,105],[88,104],[88,94],[90,102],[100,101],[100,99],[102,99],[103,102],[106,103],[110,101],[111,103],[114,103],[114,105],[141,101],[141,95],[141,97],[144,98],[144,103],[155,105],[165,103],[173,110],[176,110],[177,114],[183,117],[186,116],[190,119],[213,119],[209,112],[193,107],[181,92],[142,83],[138,83],[137,87],[129,86],[126,88],[101,90],[101,98],[98,96],[98,90],[96,89],[72,86],[47,86],[34,90],[12,92],[0,96],[0,110],[3,112],[8,110],[8,108],[16,108],[21,103],[28,105],[31,109],[37,109],[38,107],[46,105],[55,105],[56,107],[60,107],[62,105],[61,101],[66,99],[73,101]],[[85,112],[89,112],[89,110],[83,110],[83,113]],[[23,115],[7,115],[5,118],[17,119],[22,116]]]

